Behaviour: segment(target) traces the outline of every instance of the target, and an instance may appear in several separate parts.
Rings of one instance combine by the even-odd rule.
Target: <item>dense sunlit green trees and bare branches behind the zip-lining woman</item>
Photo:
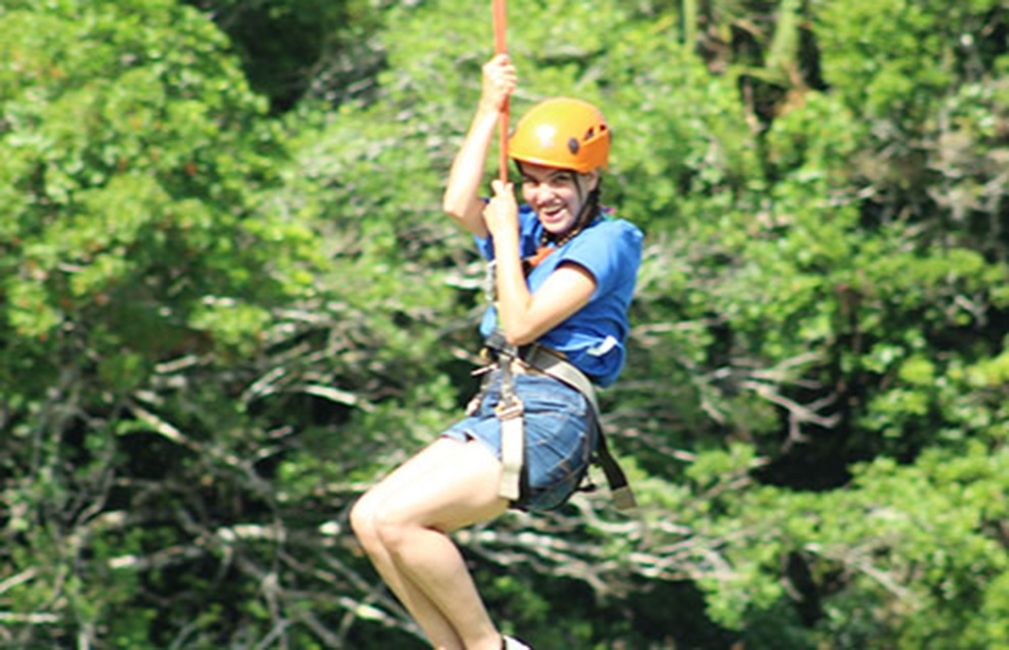
[[[353,500],[474,389],[489,2],[0,1],[0,645],[421,648]],[[647,234],[536,647],[1009,647],[1009,2],[514,0]]]

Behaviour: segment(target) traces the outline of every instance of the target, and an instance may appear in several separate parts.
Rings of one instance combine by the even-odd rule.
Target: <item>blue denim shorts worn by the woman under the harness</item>
[[[525,407],[526,435],[522,493],[513,508],[551,510],[564,505],[578,489],[598,439],[595,419],[578,391],[541,374],[514,375],[515,392]],[[479,440],[501,457],[500,371],[484,384],[475,410],[443,434],[455,440]]]

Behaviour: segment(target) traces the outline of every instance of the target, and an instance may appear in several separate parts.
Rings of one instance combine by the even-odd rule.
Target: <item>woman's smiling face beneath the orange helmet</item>
[[[544,229],[555,237],[575,226],[589,193],[598,183],[598,174],[579,175],[532,162],[522,162],[522,196],[540,218]]]

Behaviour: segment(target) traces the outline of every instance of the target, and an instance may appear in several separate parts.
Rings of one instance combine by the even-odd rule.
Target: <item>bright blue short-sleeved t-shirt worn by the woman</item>
[[[519,250],[528,257],[539,247],[543,224],[528,205],[519,209]],[[597,218],[544,259],[526,279],[536,292],[562,262],[573,262],[595,279],[595,293],[588,304],[539,338],[543,345],[563,352],[569,361],[599,386],[616,381],[624,367],[628,335],[628,309],[641,265],[644,236],[624,219]],[[476,237],[480,252],[493,259],[493,239]],[[497,327],[497,314],[487,309],[480,323],[486,338]]]

